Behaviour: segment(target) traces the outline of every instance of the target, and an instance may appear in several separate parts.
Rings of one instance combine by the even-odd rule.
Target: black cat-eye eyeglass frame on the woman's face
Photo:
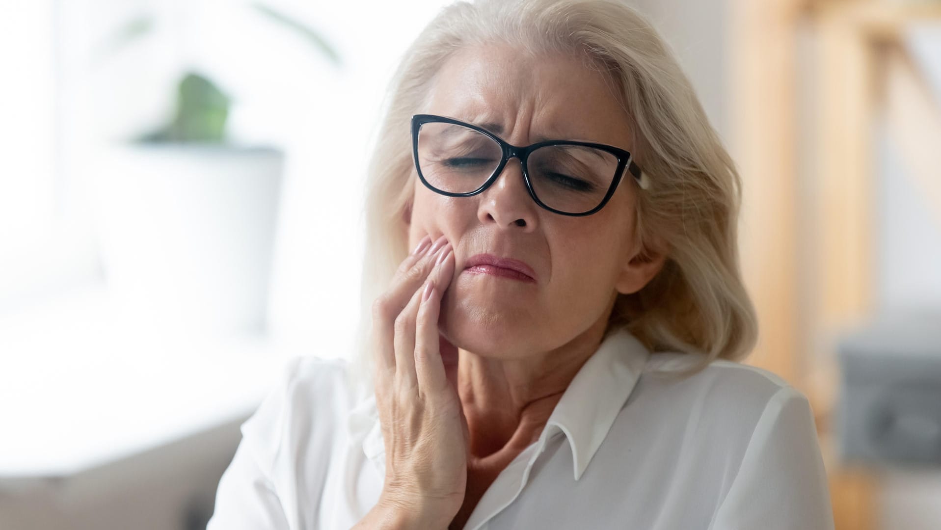
[[[477,189],[473,191],[468,191],[464,193],[455,193],[452,191],[444,191],[433,185],[430,185],[428,181],[425,180],[424,175],[422,174],[421,164],[419,164],[419,161],[418,161],[418,135],[419,135],[419,131],[422,128],[422,125],[425,123],[450,123],[452,125],[460,125],[463,127],[467,127],[478,133],[481,133],[486,137],[489,137],[490,139],[494,140],[500,145],[500,149],[502,151],[502,159],[500,161],[500,164],[497,165],[497,169],[493,170],[493,174],[487,177],[484,184],[480,185],[480,187],[478,187]],[[538,204],[540,207],[546,210],[549,210],[550,212],[553,212],[555,214],[562,215],[562,216],[584,217],[584,216],[590,216],[592,214],[597,213],[598,210],[603,208],[604,205],[607,204],[608,201],[611,200],[611,198],[614,196],[614,190],[617,189],[617,185],[620,184],[621,182],[621,177],[624,175],[625,167],[628,169],[628,171],[630,171],[630,174],[633,175],[634,179],[637,181],[637,184],[640,185],[642,188],[646,188],[644,173],[640,169],[640,167],[634,163],[633,155],[627,150],[621,149],[619,147],[614,147],[612,145],[595,143],[595,142],[583,142],[579,140],[545,140],[541,142],[536,142],[534,144],[530,144],[528,146],[516,146],[507,142],[501,137],[498,137],[497,135],[494,135],[493,133],[487,131],[483,127],[474,125],[473,123],[468,123],[466,121],[461,121],[461,120],[455,120],[454,118],[448,118],[445,116],[438,116],[435,114],[415,114],[414,116],[412,116],[411,134],[412,134],[412,156],[414,157],[415,170],[418,171],[418,178],[422,180],[422,184],[425,185],[425,187],[427,187],[428,189],[434,191],[435,193],[439,193],[440,195],[446,195],[448,197],[472,197],[479,193],[483,193],[486,190],[486,188],[490,187],[490,185],[492,185],[493,183],[497,181],[497,179],[500,177],[500,174],[502,173],[503,168],[506,166],[506,163],[509,162],[510,158],[513,158],[513,157],[516,157],[519,160],[519,163],[522,165],[523,181],[526,183],[526,189],[529,191],[530,197],[533,198],[533,201],[535,201],[535,203]],[[581,146],[581,147],[591,147],[591,148],[598,149],[607,153],[614,154],[614,156],[617,158],[617,169],[614,169],[614,178],[611,181],[611,186],[608,188],[608,192],[604,195],[604,198],[601,200],[598,206],[596,206],[595,208],[591,210],[588,210],[587,212],[583,212],[580,214],[573,214],[570,212],[563,212],[562,210],[556,210],[555,208],[552,208],[546,205],[543,201],[540,201],[539,198],[536,197],[535,192],[533,190],[533,184],[530,181],[530,177],[529,177],[529,163],[528,163],[529,155],[530,153],[533,153],[535,150],[539,148],[549,147],[553,145],[573,145],[573,146]]]

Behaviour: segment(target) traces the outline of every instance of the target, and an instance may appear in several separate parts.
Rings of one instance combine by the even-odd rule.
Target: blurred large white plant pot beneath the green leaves
[[[89,174],[110,296],[145,326],[263,332],[283,155],[128,145]]]

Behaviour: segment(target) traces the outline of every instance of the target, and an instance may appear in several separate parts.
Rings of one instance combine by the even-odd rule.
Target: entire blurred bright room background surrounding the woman
[[[0,528],[205,526],[284,362],[351,353],[384,88],[448,3],[0,8]],[[742,170],[747,362],[837,528],[941,527],[941,1],[630,4]]]

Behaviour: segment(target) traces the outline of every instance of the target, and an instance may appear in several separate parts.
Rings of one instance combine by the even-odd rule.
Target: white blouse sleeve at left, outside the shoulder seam
[[[258,410],[242,424],[242,441],[219,480],[215,511],[206,530],[290,529],[271,472],[298,361],[295,358],[287,363]]]

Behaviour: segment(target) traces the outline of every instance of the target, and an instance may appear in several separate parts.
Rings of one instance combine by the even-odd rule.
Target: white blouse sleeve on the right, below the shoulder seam
[[[807,398],[782,387],[765,406],[711,530],[831,530],[830,493]]]

